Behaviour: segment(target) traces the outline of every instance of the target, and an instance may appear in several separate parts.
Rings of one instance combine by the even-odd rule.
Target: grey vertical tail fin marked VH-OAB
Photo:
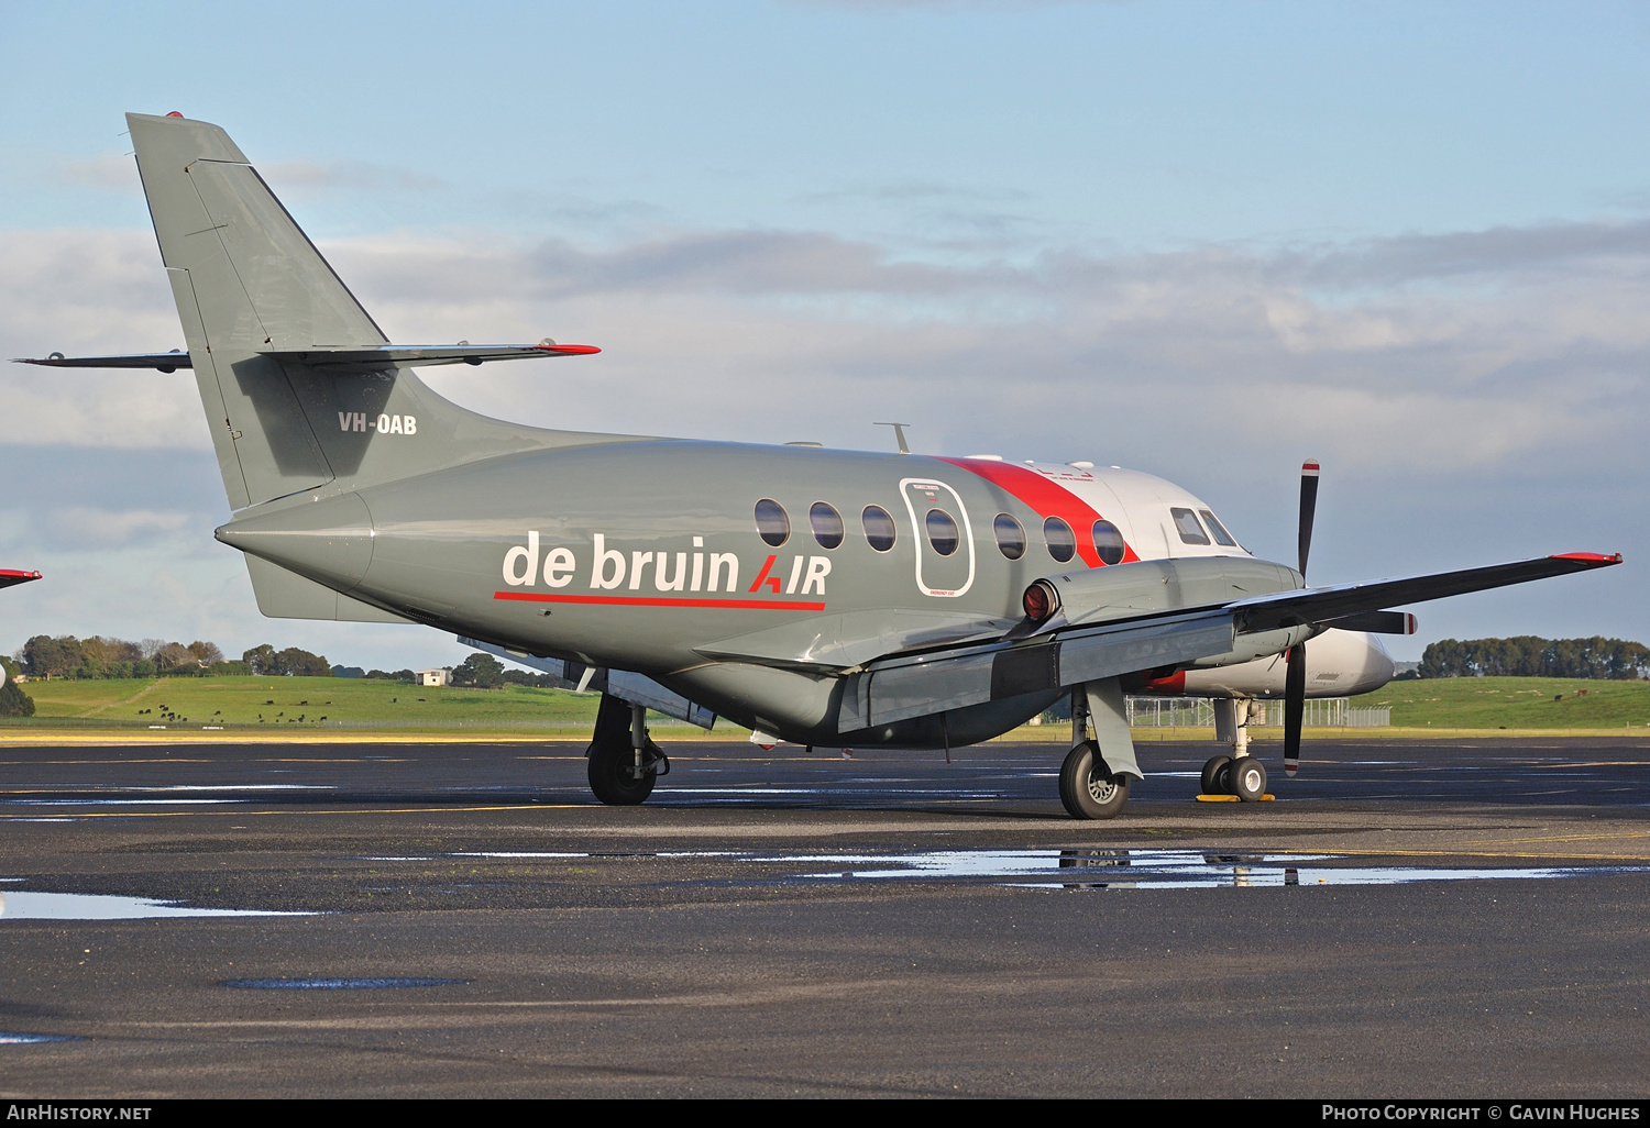
[[[233,508],[615,439],[487,419],[432,392],[394,350],[373,363],[384,333],[228,134],[186,117],[125,120]]]

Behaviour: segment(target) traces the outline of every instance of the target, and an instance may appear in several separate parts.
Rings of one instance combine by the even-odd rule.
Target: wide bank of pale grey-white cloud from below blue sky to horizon
[[[1330,580],[1650,549],[1630,488],[1650,472],[1647,231],[1066,247],[1013,262],[808,231],[615,247],[386,234],[323,251],[394,340],[601,345],[426,373],[465,406],[540,425],[888,449],[871,421],[909,419],[917,450],[1162,473],[1284,556],[1292,475],[1315,455],[1328,477],[1313,569]],[[180,341],[148,233],[0,233],[0,355]],[[210,539],[226,501],[188,373],[5,364],[0,396],[13,501],[0,548],[54,569],[50,590],[13,600],[20,623],[226,648],[261,633],[312,650],[342,640],[361,648],[351,661],[393,661],[393,630],[257,618],[239,559]],[[1548,618],[1521,627],[1650,633],[1642,594],[1615,582],[1577,580],[1574,597],[1558,584],[1534,600]],[[167,592],[182,592],[172,613],[188,627],[157,618]],[[1439,622],[1505,633],[1450,609]]]

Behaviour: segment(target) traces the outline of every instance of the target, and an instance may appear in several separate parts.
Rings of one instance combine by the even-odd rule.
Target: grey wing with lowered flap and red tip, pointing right
[[[1457,572],[1297,589],[1218,607],[1150,612],[1021,640],[889,655],[846,679],[838,727],[848,732],[1140,670],[1188,665],[1229,653],[1238,635],[1323,623],[1379,612],[1393,604],[1462,595],[1620,562],[1620,554],[1566,552]]]

